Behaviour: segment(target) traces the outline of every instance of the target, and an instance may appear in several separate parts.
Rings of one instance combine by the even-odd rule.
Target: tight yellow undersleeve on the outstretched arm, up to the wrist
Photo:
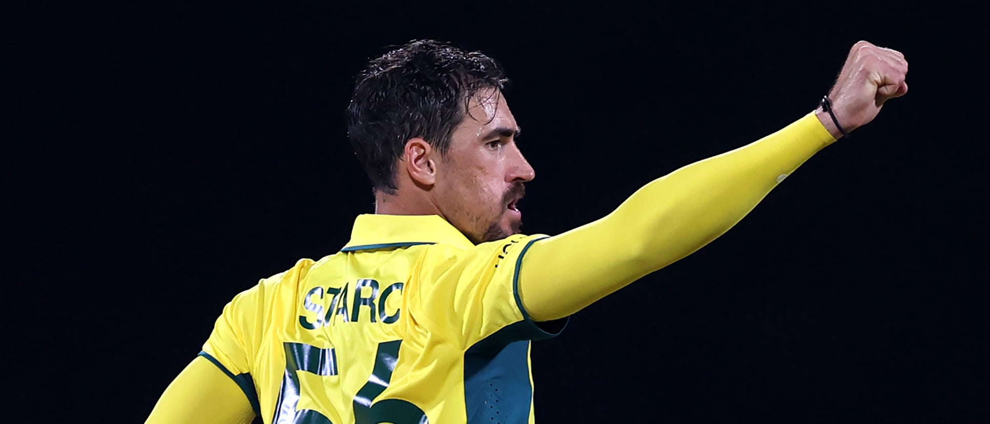
[[[605,217],[533,243],[520,293],[537,320],[570,315],[722,235],[836,139],[814,113],[653,180]]]

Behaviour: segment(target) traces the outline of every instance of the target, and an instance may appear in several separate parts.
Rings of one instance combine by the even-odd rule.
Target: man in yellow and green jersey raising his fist
[[[906,94],[907,70],[857,42],[818,110],[545,236],[519,233],[535,173],[495,61],[432,41],[390,51],[348,108],[376,213],[340,252],[234,297],[148,422],[532,423],[531,341],[727,231]]]

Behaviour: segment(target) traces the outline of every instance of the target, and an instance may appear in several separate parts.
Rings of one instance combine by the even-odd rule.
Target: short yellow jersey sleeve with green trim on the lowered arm
[[[241,386],[255,413],[258,413],[259,407],[250,373],[257,347],[255,338],[261,334],[258,329],[263,311],[261,289],[258,284],[224,306],[199,353]]]

